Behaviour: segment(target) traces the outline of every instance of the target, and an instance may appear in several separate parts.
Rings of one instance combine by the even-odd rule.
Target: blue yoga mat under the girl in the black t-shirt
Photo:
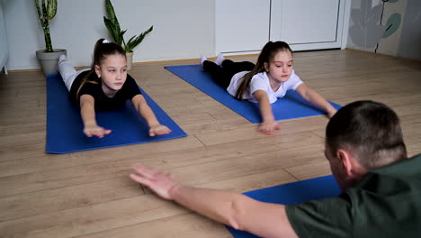
[[[103,138],[87,137],[83,133],[80,109],[68,99],[67,88],[59,75],[47,76],[47,144],[48,153],[86,151],[135,143],[157,142],[187,134],[140,88],[160,124],[172,133],[150,137],[148,124],[128,100],[116,111],[96,112],[97,123],[112,133]]]

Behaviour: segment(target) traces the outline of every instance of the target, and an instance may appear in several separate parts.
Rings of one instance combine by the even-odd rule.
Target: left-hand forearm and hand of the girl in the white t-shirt
[[[273,134],[274,131],[281,129],[281,126],[274,120],[272,106],[269,103],[269,97],[264,90],[257,90],[253,93],[259,103],[262,123],[259,125],[259,132],[264,134]]]

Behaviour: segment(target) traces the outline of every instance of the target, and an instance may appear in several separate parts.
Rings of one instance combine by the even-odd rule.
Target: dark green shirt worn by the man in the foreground
[[[369,172],[339,197],[286,206],[300,237],[421,237],[421,154]]]

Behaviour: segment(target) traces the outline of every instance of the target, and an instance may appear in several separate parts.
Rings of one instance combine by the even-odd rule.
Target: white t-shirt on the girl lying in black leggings
[[[231,81],[229,82],[229,86],[227,87],[227,91],[230,95],[236,96],[237,88],[243,81],[243,77],[248,73],[249,71],[242,71],[237,74],[235,74]],[[295,71],[292,70],[291,77],[288,78],[286,82],[283,82],[281,86],[278,88],[278,90],[273,91],[271,84],[269,82],[269,78],[267,77],[266,72],[258,73],[253,76],[253,78],[250,81],[250,87],[246,91],[246,93],[243,96],[243,99],[246,99],[250,102],[257,103],[257,100],[255,99],[255,96],[253,96],[253,93],[256,90],[264,90],[267,93],[267,96],[269,97],[269,103],[273,104],[276,102],[278,98],[281,98],[282,96],[285,96],[286,92],[289,89],[292,89],[295,91],[297,87],[299,87],[303,82],[301,81],[300,77],[295,74]]]

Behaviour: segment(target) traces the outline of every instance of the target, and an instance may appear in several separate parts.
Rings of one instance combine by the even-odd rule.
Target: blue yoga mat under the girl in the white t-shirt
[[[201,65],[167,66],[166,69],[194,87],[197,87],[207,95],[213,97],[215,100],[219,101],[219,103],[228,106],[237,114],[241,114],[250,122],[254,124],[261,122],[258,104],[248,101],[238,101],[233,96],[229,95],[226,89],[219,87],[212,78],[210,78],[210,75],[202,70]],[[331,104],[336,109],[342,107],[335,103]],[[275,120],[277,121],[326,114],[315,105],[311,105],[305,101],[293,90],[289,90],[286,96],[273,103],[272,109]]]

